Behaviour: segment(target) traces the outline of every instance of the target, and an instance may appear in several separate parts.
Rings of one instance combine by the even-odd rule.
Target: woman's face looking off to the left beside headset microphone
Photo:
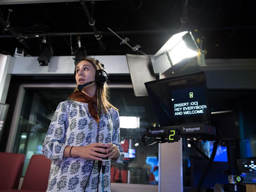
[[[76,84],[84,84],[95,81],[96,70],[89,61],[80,61],[75,68]]]

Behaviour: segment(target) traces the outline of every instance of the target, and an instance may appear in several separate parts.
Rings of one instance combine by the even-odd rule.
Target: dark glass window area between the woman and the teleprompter
[[[146,127],[157,124],[149,98],[135,97],[132,89],[112,89],[110,99],[119,109],[125,152],[123,164],[112,164],[111,182],[158,184],[158,145],[146,146],[141,142]],[[136,124],[137,127],[129,128]]]

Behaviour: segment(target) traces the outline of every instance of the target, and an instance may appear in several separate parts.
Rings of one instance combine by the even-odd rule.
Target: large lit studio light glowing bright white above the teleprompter
[[[160,73],[163,73],[170,67],[175,71],[194,61],[197,55],[198,45],[196,44],[192,33],[183,31],[173,35],[163,47],[159,49],[154,55],[156,60],[153,62],[153,67],[154,69],[158,68],[158,70],[161,70],[155,71]]]

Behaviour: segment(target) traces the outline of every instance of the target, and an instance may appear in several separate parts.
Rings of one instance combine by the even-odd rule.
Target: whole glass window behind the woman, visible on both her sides
[[[41,148],[57,105],[73,89],[26,89],[18,125],[15,153],[26,155],[22,176]],[[111,88],[111,103],[119,109],[123,164],[111,164],[111,182],[158,184],[158,145],[145,146],[146,127],[157,125],[148,97],[135,97],[133,89]]]

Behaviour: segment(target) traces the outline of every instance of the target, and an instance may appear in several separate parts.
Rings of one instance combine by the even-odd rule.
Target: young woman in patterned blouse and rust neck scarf
[[[99,79],[102,69],[98,60],[83,58],[75,66],[77,85]],[[124,151],[107,84],[76,87],[70,98],[58,105],[42,148],[52,160],[47,191],[110,191],[110,161],[122,163]]]

